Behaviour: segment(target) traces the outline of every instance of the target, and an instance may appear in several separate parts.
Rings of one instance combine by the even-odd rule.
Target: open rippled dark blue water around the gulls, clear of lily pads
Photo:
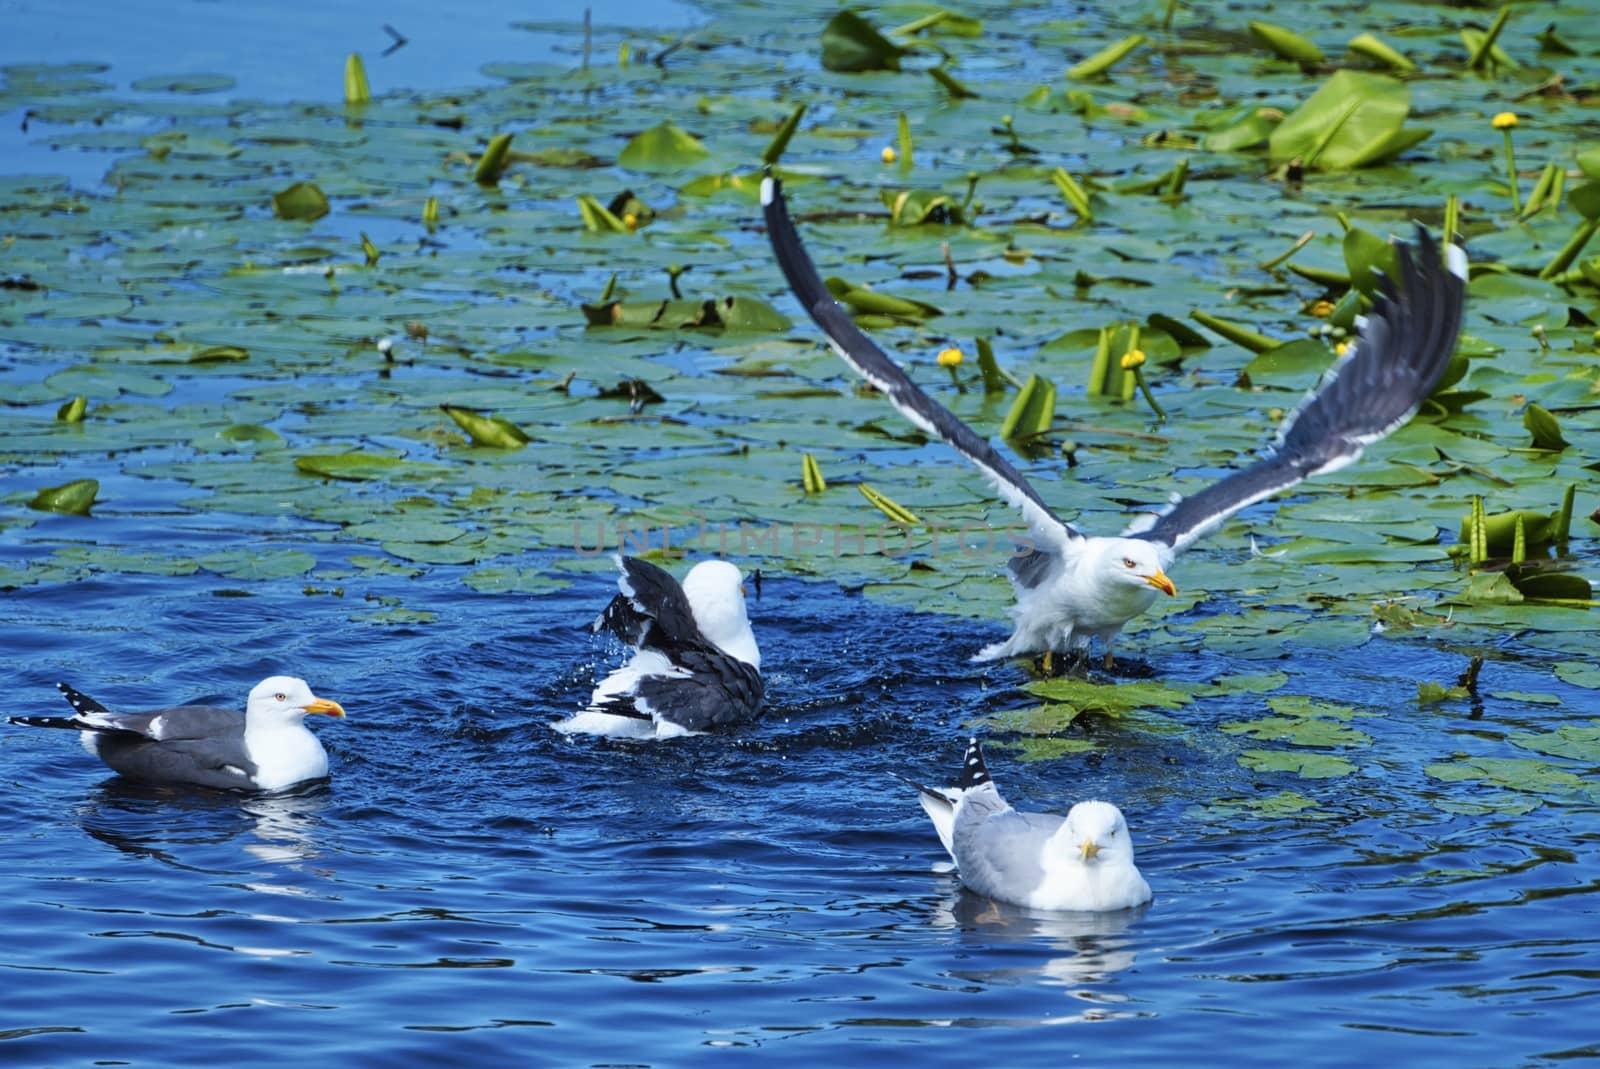
[[[410,10],[370,21],[414,34]],[[16,11],[34,21],[14,26],[56,26],[45,8],[0,18]],[[120,86],[197,69],[120,54],[110,8],[94,11],[104,53],[56,37],[38,58],[109,62],[101,77]],[[6,58],[21,40],[5,38]],[[240,69],[240,91],[296,94],[270,66]],[[446,66],[445,83],[475,70]],[[61,158],[51,170],[82,186],[106,166]],[[51,368],[34,362],[67,357],[5,360],[37,378]],[[235,386],[190,381],[186,400]],[[1528,757],[1509,739],[1587,723],[1592,693],[1509,637],[1483,650],[1474,704],[1414,703],[1418,679],[1466,664],[1445,640],[1134,666],[1178,682],[1285,671],[1291,693],[1358,706],[1373,743],[1342,778],[1243,768],[1258,744],[1221,725],[1262,717],[1251,695],[1091,717],[1067,738],[1096,749],[1046,762],[995,738],[990,767],[1018,803],[1115,799],[1155,888],[1136,914],[1030,915],[963,893],[893,778],[947,779],[965,722],[1034,704],[1022,669],[965,661],[998,621],[768,571],[752,602],[763,722],[662,746],[563,739],[546,725],[618,658],[587,634],[608,576],[525,597],[474,594],[451,567],[352,575],[350,547],[317,525],[194,514],[178,504],[192,486],[123,462],[74,458],[109,504],[93,523],[0,526],[0,567],[93,539],[270,544],[315,555],[318,573],[3,591],[0,712],[64,712],[56,680],[141,707],[237,703],[293,671],[350,717],[314,725],[331,783],[272,799],[133,786],[66,733],[0,725],[0,1064],[678,1066],[723,1048],[960,1069],[1600,1058],[1594,770],[1520,792],[1426,770],[1458,751]],[[13,474],[0,467],[0,496],[21,510]],[[360,619],[378,599],[434,619],[378,629]],[[1288,792],[1306,808],[1240,805]]]

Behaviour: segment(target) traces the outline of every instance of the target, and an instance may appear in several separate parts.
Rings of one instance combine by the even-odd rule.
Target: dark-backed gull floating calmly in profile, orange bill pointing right
[[[322,779],[328,775],[328,754],[306,730],[306,715],[344,717],[339,703],[317,698],[306,680],[290,675],[256,683],[245,715],[216,706],[112,712],[66,683],[56,687],[74,715],[11,717],[11,723],[82,731],[90,754],[123,776],[158,784],[280,791]]]

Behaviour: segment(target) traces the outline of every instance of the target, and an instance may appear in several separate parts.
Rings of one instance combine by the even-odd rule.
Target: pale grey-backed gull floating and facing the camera
[[[962,883],[1030,909],[1109,912],[1150,901],[1133,863],[1128,823],[1110,802],[1078,802],[1066,818],[1021,813],[1000,797],[978,739],[968,739],[954,787],[917,787],[917,800],[955,859]]]

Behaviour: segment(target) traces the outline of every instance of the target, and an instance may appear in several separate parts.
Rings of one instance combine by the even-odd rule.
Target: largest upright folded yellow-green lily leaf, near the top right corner
[[[1341,171],[1378,163],[1432,134],[1405,130],[1411,91],[1381,74],[1339,70],[1267,139],[1274,165]]]

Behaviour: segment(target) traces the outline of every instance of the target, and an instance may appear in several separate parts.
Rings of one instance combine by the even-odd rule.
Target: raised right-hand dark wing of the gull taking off
[[[1283,421],[1274,453],[1178,501],[1154,523],[1134,523],[1130,536],[1182,551],[1245,506],[1352,464],[1363,446],[1416,414],[1456,350],[1467,259],[1454,245],[1442,250],[1421,226],[1416,251],[1402,242],[1398,254],[1402,288],[1382,280],[1360,336]]]

